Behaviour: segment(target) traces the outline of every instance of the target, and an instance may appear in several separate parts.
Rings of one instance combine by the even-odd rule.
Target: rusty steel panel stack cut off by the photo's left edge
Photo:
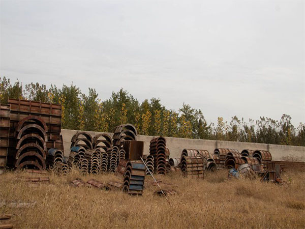
[[[3,173],[8,156],[10,138],[10,105],[0,104],[0,174]]]

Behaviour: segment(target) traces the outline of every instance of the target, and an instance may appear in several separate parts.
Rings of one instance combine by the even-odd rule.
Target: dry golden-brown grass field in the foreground
[[[304,228],[305,174],[287,171],[283,185],[259,180],[227,179],[227,171],[188,179],[177,171],[156,176],[168,195],[154,194],[158,187],[146,177],[143,196],[97,188],[76,188],[70,181],[91,178],[120,181],[115,175],[67,176],[49,173],[50,183],[22,181],[28,173],[0,176],[0,214],[12,214],[14,228]],[[147,182],[149,181],[149,182]],[[28,208],[10,203],[34,203]],[[20,205],[20,204],[19,204]],[[0,222],[3,223],[3,222]]]

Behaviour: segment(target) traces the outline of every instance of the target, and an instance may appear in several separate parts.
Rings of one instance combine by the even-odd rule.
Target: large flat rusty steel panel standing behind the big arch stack
[[[51,148],[64,150],[63,138],[60,135],[62,129],[62,107],[59,104],[22,99],[9,99],[8,103],[11,105],[10,148],[12,147],[12,155],[14,154],[14,148],[16,146],[14,136],[18,122],[20,120],[31,122],[33,118],[42,120],[46,124],[48,139],[46,141],[47,150]],[[8,159],[10,165],[13,165],[13,162],[13,157]]]

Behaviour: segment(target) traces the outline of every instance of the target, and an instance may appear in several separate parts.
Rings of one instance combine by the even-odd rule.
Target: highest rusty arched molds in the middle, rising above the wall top
[[[120,148],[124,140],[136,140],[137,129],[132,124],[123,124],[115,127],[112,136],[113,146]]]

